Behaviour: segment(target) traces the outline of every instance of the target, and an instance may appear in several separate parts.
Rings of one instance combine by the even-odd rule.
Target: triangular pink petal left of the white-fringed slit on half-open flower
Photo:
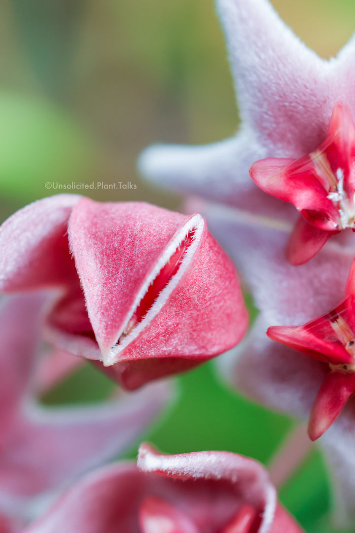
[[[186,220],[184,215],[135,202],[102,204],[82,198],[73,210],[72,252],[104,354],[118,341],[144,281]]]

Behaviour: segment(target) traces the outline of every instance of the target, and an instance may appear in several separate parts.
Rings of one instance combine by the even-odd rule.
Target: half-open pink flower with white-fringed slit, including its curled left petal
[[[127,389],[217,356],[247,327],[233,263],[199,214],[58,195],[11,216],[0,249],[0,290],[52,289],[48,341]]]

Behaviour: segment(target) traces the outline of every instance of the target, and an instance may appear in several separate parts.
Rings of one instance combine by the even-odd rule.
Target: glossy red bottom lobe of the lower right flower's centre
[[[308,434],[316,440],[333,424],[345,403],[355,392],[355,374],[329,372],[313,404],[308,423]]]

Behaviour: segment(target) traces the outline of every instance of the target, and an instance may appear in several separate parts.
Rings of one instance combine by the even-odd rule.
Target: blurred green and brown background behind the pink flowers
[[[355,29],[353,0],[273,4],[325,58]],[[61,192],[45,183],[72,181],[131,181],[136,190],[87,194],[178,209],[181,198],[139,180],[139,151],[156,141],[216,141],[233,134],[237,124],[212,0],[0,3],[2,220],[29,201]],[[178,381],[177,402],[144,436],[167,453],[221,449],[267,463],[294,424],[227,390],[213,363]],[[93,401],[112,386],[86,365],[44,401]],[[127,452],[135,455],[136,447]],[[334,531],[328,524],[326,469],[316,449],[282,487],[280,498],[307,532]]]

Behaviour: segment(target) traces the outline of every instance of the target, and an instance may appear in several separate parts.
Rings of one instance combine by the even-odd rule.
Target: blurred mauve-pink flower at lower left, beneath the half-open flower
[[[35,377],[44,304],[36,293],[8,297],[0,309],[0,514],[24,518],[35,499],[130,446],[170,395],[167,384],[156,383],[94,406],[40,405]]]

